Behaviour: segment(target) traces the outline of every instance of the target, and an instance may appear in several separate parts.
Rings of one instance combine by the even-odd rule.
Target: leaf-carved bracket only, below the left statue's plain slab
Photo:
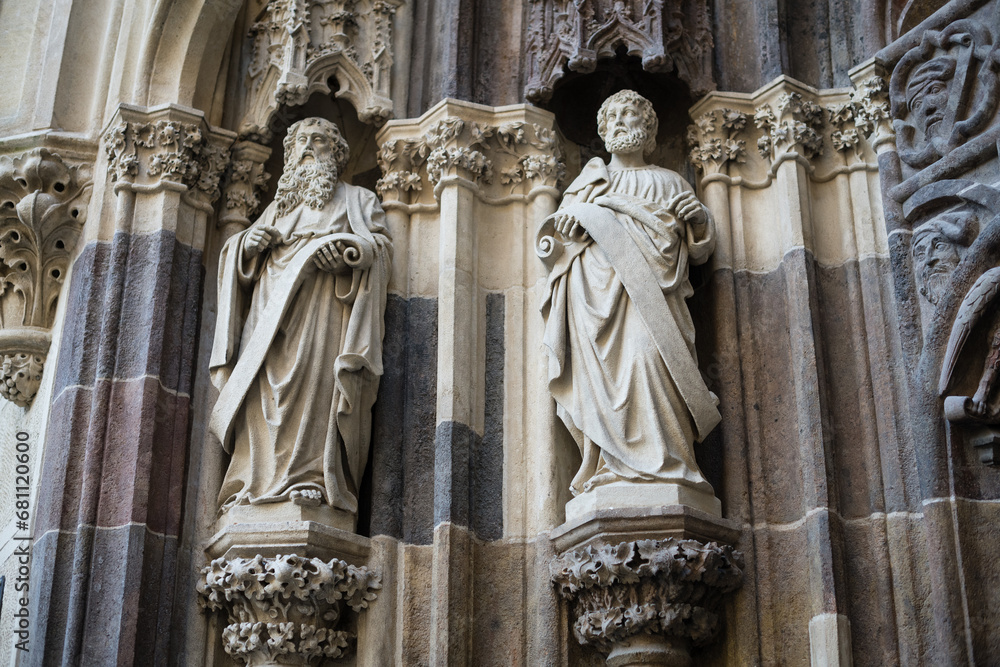
[[[226,653],[251,667],[344,656],[354,640],[348,610],[366,609],[380,588],[366,567],[296,555],[217,558],[198,583],[199,603],[227,614]]]

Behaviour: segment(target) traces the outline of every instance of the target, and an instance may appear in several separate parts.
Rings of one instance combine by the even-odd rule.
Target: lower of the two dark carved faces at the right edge
[[[933,305],[941,300],[951,274],[975,236],[975,219],[966,211],[944,213],[913,233],[913,270],[920,294]]]

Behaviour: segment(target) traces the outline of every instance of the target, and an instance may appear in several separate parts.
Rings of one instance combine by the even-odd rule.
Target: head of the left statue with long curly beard
[[[300,203],[322,209],[333,196],[349,157],[350,148],[340,128],[325,118],[306,118],[288,128],[285,171],[274,196],[278,215],[289,213]]]

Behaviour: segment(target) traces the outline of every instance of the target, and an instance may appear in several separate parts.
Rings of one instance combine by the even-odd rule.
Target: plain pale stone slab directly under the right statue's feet
[[[642,510],[681,505],[722,517],[714,493],[669,482],[614,482],[581,493],[566,503],[566,522],[603,510]]]

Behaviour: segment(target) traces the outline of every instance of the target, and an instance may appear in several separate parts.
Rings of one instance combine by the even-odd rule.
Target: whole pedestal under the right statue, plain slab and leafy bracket
[[[666,485],[637,484],[631,495],[614,486],[571,501],[566,523],[550,536],[557,554],[550,574],[570,602],[573,634],[610,667],[688,667],[691,646],[717,637],[723,599],[743,582],[743,555],[731,546],[739,531],[714,512],[640,504],[663,497],[642,487]],[[609,493],[595,493],[602,490]],[[592,509],[614,498],[610,508]]]

